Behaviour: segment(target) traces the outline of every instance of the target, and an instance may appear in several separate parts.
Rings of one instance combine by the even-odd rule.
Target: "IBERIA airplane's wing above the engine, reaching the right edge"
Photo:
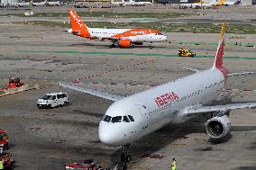
[[[203,106],[199,108],[189,108],[186,110],[187,116],[194,116],[206,112],[223,112],[232,109],[244,109],[251,108],[256,109],[256,103],[232,103],[226,105],[215,105],[215,106]]]

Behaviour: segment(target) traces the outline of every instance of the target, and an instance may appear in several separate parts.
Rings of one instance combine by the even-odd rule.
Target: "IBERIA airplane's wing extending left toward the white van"
[[[93,89],[90,89],[90,88],[87,88],[87,87],[79,87],[79,86],[75,86],[75,85],[68,85],[68,84],[63,84],[61,82],[59,82],[59,86],[67,87],[69,89],[76,90],[78,92],[83,92],[83,93],[86,93],[86,94],[96,95],[98,97],[108,99],[108,100],[111,100],[111,101],[118,101],[118,100],[124,98],[124,96],[121,96],[121,95],[107,94],[107,93],[100,92],[98,90],[93,90]]]

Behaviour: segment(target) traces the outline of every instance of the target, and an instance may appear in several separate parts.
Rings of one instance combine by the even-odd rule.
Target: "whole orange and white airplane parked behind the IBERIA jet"
[[[160,42],[167,39],[160,31],[151,29],[105,29],[89,28],[74,10],[69,10],[72,28],[67,32],[90,40],[112,41],[112,48],[130,48],[143,42]],[[152,48],[152,46],[150,46]]]

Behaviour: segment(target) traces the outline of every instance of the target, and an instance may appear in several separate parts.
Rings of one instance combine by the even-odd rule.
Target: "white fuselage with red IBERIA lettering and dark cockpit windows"
[[[186,109],[209,103],[224,88],[224,74],[217,68],[180,78],[114,102],[100,121],[99,139],[123,146],[164,127],[181,123]]]

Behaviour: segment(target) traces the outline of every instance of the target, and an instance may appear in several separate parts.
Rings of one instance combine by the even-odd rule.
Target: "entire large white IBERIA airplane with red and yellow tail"
[[[222,92],[229,76],[251,73],[229,74],[223,66],[224,31],[225,23],[213,67],[206,70],[188,68],[196,73],[138,94],[126,97],[75,85],[59,85],[114,101],[99,123],[98,137],[106,145],[123,146],[125,162],[131,159],[129,146],[132,142],[168,124],[182,123],[200,114],[211,113],[206,121],[208,136],[223,139],[231,128],[230,110],[256,108],[256,103],[208,105]]]

